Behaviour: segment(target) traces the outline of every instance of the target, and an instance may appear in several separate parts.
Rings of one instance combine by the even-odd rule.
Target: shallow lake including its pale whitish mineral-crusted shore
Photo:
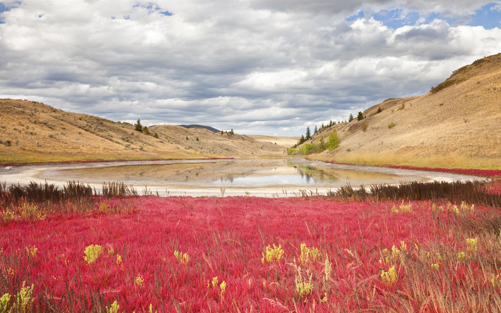
[[[8,184],[47,181],[62,186],[80,181],[99,190],[103,182],[115,181],[133,185],[139,194],[147,186],[163,196],[285,196],[301,190],[324,193],[346,184],[472,179],[482,178],[281,157],[36,165],[0,171],[0,181]]]

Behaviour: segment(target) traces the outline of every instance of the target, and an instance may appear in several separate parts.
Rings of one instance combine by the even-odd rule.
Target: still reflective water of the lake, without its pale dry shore
[[[206,163],[122,165],[56,170],[53,179],[91,183],[119,181],[135,186],[162,188],[266,187],[334,188],[371,183],[398,183],[402,177],[385,173],[361,172],[310,165],[306,160],[282,158],[235,159]],[[51,178],[51,177],[48,177]]]

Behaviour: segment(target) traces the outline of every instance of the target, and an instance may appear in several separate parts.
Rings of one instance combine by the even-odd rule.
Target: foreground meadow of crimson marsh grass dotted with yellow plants
[[[499,195],[499,183],[489,188]],[[496,207],[447,200],[96,195],[57,204],[5,203],[0,295],[10,295],[2,302],[7,310],[501,307]],[[14,218],[5,219],[7,211]]]

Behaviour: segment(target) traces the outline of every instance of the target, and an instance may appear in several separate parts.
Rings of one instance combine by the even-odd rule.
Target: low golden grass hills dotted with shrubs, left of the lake
[[[290,146],[282,137],[256,140],[203,128],[164,125],[149,132],[34,101],[0,99],[0,163],[283,155]]]

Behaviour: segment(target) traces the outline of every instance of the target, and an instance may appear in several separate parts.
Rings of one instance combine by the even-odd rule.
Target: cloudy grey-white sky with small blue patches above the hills
[[[501,52],[501,1],[0,1],[0,98],[297,136]]]

